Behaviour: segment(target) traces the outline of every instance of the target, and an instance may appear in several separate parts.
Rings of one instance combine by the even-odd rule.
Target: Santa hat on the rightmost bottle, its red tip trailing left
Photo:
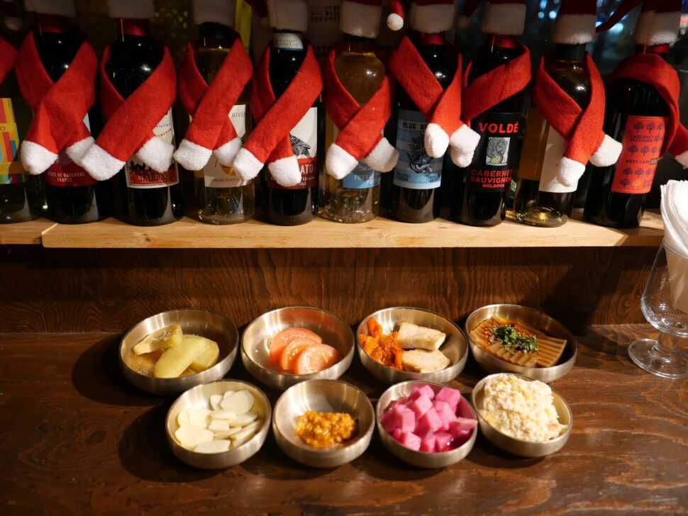
[[[614,27],[641,2],[643,9],[633,31],[633,41],[648,47],[674,43],[681,25],[682,0],[625,0],[609,20],[597,28],[597,32]]]

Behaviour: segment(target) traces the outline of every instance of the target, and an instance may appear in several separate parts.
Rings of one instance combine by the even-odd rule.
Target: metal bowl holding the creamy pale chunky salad
[[[571,408],[569,407],[568,403],[566,403],[566,400],[562,398],[560,393],[557,393],[557,391],[552,389],[554,406],[557,409],[557,414],[559,415],[559,422],[562,425],[567,425],[566,431],[559,437],[550,439],[547,442],[521,441],[520,439],[514,439],[514,437],[510,437],[509,435],[496,430],[496,428],[490,425],[480,413],[484,408],[485,383],[493,376],[494,374],[491,374],[490,376],[485,376],[485,378],[482,378],[482,380],[475,385],[473,392],[471,393],[471,403],[478,416],[480,431],[485,437],[487,437],[489,442],[492,442],[492,444],[503,449],[504,451],[508,451],[510,454],[519,455],[522,457],[543,457],[562,449],[571,435],[571,429],[573,427],[573,413],[571,412]],[[525,380],[533,381],[533,378],[528,378],[528,376],[523,376],[521,374],[513,374],[513,376],[519,376]]]

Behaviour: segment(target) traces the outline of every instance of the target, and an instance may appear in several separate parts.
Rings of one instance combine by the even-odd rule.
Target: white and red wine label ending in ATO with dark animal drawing
[[[313,188],[318,185],[318,108],[310,108],[299,120],[289,136],[292,149],[301,167],[301,182],[296,186],[284,187],[277,184],[270,171],[267,172],[267,186],[283,190]]]

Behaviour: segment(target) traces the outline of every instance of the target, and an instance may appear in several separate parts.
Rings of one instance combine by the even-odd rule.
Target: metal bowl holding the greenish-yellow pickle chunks
[[[185,334],[201,335],[217,342],[220,348],[218,363],[206,371],[179,378],[155,378],[131,369],[124,357],[143,337],[160,328],[177,324]],[[124,335],[119,346],[119,362],[124,376],[135,386],[152,394],[176,394],[187,389],[218,380],[227,374],[236,358],[239,332],[224,315],[206,310],[170,310],[144,319]]]

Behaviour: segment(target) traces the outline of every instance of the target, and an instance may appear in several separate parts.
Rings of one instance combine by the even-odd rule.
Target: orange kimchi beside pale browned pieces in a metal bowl
[[[387,367],[414,373],[433,373],[452,363],[440,351],[447,335],[439,330],[401,321],[399,327],[387,335],[374,318],[368,318],[366,327],[368,335],[358,335],[363,350]]]

